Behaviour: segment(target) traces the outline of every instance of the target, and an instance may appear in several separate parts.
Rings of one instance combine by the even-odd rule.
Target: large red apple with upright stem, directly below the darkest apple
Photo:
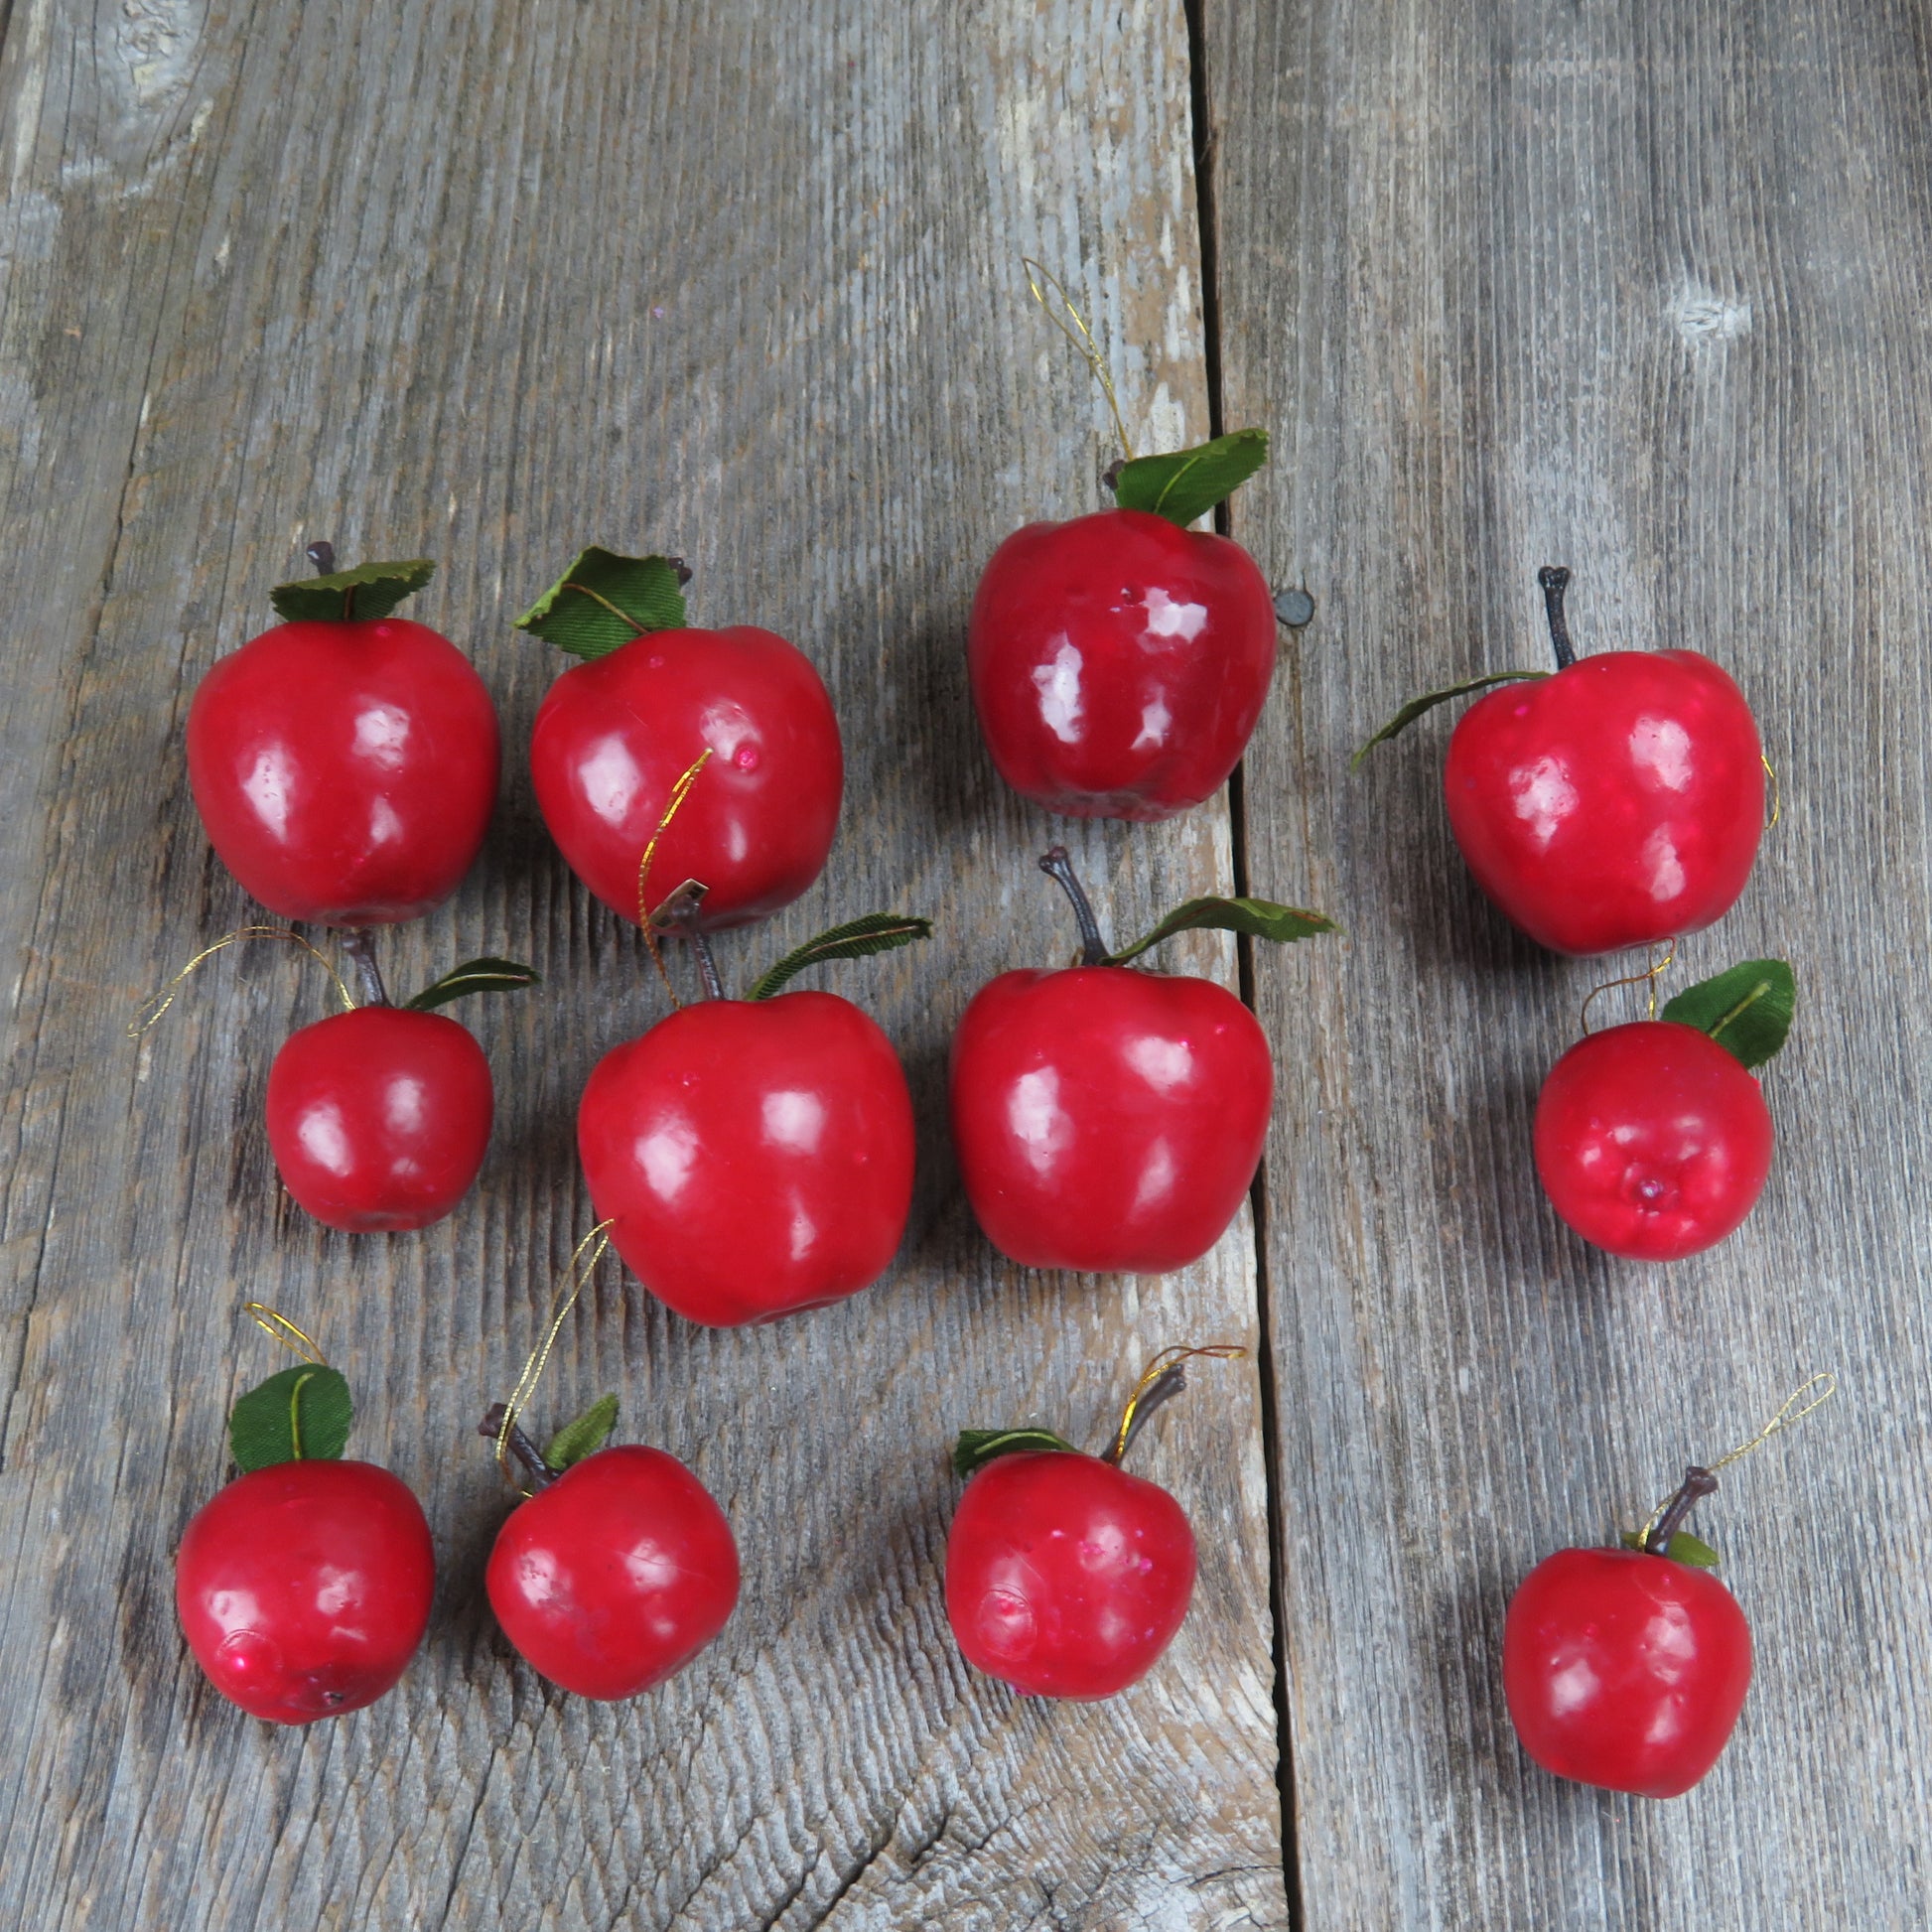
[[[1041,869],[1080,922],[1082,964],[1007,972],[952,1036],[952,1142],[987,1238],[1026,1267],[1165,1273],[1235,1219],[1267,1138],[1273,1057],[1211,980],[1126,962],[1171,933],[1335,931],[1318,912],[1196,898],[1109,952],[1063,846]]]

